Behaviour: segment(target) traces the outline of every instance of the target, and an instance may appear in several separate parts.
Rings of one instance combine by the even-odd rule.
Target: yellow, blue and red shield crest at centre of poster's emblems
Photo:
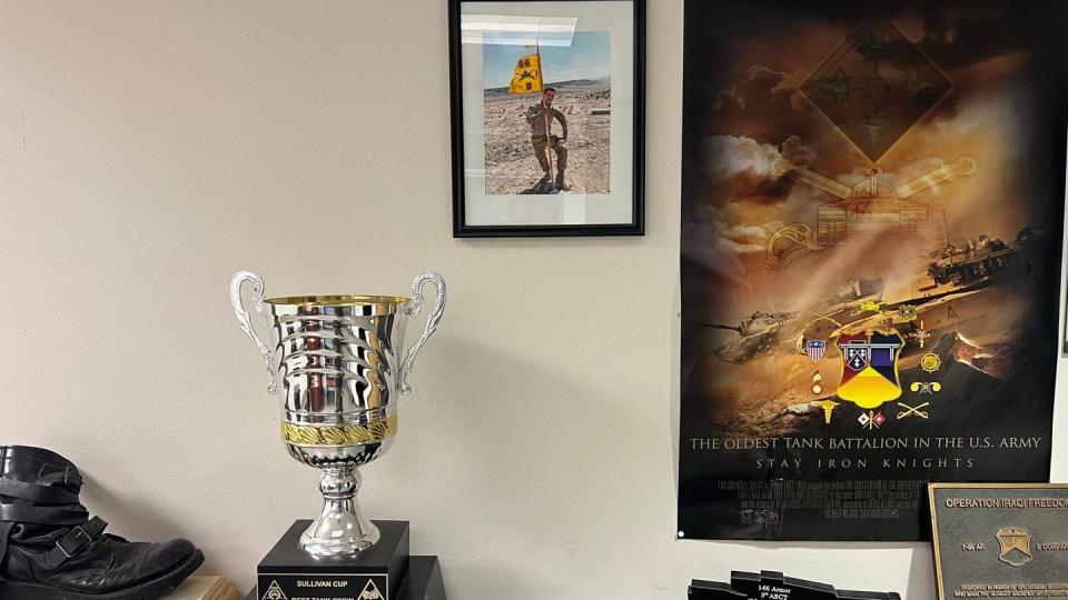
[[[897,331],[843,333],[835,342],[842,354],[838,397],[873,409],[901,397],[898,356],[904,340]]]

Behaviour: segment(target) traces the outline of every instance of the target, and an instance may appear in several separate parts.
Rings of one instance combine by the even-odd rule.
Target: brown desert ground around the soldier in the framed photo
[[[612,87],[609,79],[547,83],[556,88],[553,107],[567,119],[567,193],[609,193]],[[486,193],[532,193],[542,168],[531,146],[526,109],[540,93],[516,96],[506,88],[485,90]],[[553,134],[560,122],[553,120]],[[555,169],[556,157],[553,156]]]

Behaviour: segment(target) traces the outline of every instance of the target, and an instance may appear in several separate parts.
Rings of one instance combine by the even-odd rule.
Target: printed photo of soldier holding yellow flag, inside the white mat
[[[487,194],[609,193],[610,34],[485,44]]]

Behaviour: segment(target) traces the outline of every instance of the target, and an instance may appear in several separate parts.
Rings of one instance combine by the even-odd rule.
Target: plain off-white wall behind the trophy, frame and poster
[[[448,310],[360,497],[454,600],[761,568],[932,598],[926,544],[674,539],[682,0],[649,6],[643,238],[452,238],[446,29],[444,0],[0,1],[0,443],[60,451],[113,532],[191,538],[251,586],[317,473],[230,274],[404,293],[434,268]]]

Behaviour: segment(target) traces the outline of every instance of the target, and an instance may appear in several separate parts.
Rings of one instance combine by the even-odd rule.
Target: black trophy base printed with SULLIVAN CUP
[[[400,589],[409,570],[407,521],[375,521],[382,533],[378,543],[345,557],[313,557],[300,550],[300,534],[310,524],[310,520],[293,523],[259,561],[255,593],[258,600],[402,598]]]

